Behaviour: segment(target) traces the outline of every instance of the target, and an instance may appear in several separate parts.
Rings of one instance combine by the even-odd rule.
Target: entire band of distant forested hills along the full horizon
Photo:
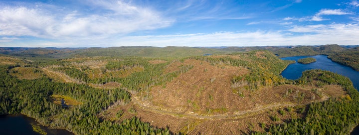
[[[304,55],[335,55],[351,50],[358,51],[358,46],[340,46],[337,44],[321,46],[254,46],[254,47],[91,47],[91,48],[22,48],[0,47],[0,54],[27,58],[68,58],[87,56],[138,56],[138,57],[189,57],[203,54],[229,54],[251,50],[269,50],[278,57]]]

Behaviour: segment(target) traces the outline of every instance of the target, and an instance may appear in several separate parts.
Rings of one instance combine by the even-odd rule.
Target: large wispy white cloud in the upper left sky
[[[122,1],[92,1],[105,13],[54,11],[46,6],[0,8],[0,35],[40,38],[91,38],[170,26],[161,13]]]

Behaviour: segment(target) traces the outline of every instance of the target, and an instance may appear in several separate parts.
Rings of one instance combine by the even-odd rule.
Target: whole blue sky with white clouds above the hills
[[[359,0],[0,0],[0,47],[324,44],[359,44]]]

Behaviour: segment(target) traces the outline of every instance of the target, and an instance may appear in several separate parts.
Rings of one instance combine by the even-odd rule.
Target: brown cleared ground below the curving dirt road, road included
[[[306,86],[309,87],[309,86]],[[280,88],[280,87],[279,87]],[[327,92],[340,93],[339,86],[328,85]],[[339,88],[339,89],[337,89]],[[277,88],[276,88],[277,89]],[[324,89],[321,89],[322,91]],[[309,90],[308,90],[309,91]],[[323,93],[322,98],[309,100],[307,103],[283,103],[268,104],[259,106],[257,109],[246,110],[241,113],[227,115],[201,116],[196,114],[187,114],[183,112],[171,112],[153,108],[148,104],[139,101],[139,98],[133,97],[130,104],[116,106],[104,111],[99,116],[103,119],[121,122],[133,116],[139,117],[142,121],[150,123],[154,127],[169,127],[174,133],[185,133],[189,135],[233,135],[249,134],[250,131],[264,131],[269,125],[283,123],[289,119],[301,118],[302,114],[298,109],[311,102],[321,102],[327,100],[329,94]],[[337,95],[339,96],[339,95]],[[317,97],[316,97],[317,98]],[[291,108],[291,111],[288,111]],[[130,113],[130,109],[136,110],[136,113]],[[121,118],[115,118],[116,112],[123,110],[125,113]],[[282,115],[279,110],[284,111]],[[278,117],[279,121],[273,121],[271,117]],[[264,128],[262,128],[262,123]]]

